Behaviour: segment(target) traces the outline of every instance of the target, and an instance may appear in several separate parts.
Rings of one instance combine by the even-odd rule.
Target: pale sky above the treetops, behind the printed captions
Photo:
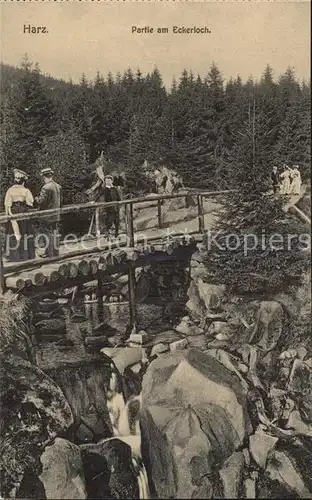
[[[170,85],[181,71],[205,76],[214,61],[223,77],[275,76],[288,66],[310,77],[310,2],[91,2],[0,4],[1,60],[19,66],[24,53],[43,73],[78,81],[128,67],[157,66]],[[23,34],[25,25],[47,34]],[[211,34],[173,34],[172,26],[207,26]],[[169,28],[168,34],[133,34],[132,26]]]

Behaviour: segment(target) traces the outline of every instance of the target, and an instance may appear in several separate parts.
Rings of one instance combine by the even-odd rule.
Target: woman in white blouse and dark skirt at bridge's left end
[[[6,215],[24,213],[32,209],[34,198],[31,191],[25,187],[28,175],[19,169],[14,169],[14,184],[4,198]],[[9,221],[6,241],[7,257],[11,261],[30,260],[35,258],[34,233],[31,221]]]

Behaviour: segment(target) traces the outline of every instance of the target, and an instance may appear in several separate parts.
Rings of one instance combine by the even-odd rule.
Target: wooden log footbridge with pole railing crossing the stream
[[[130,309],[135,309],[135,269],[150,262],[188,259],[196,249],[196,242],[202,241],[205,232],[204,200],[216,198],[230,191],[185,191],[171,195],[153,195],[142,198],[125,199],[118,202],[90,202],[80,205],[64,206],[60,209],[44,210],[0,216],[0,224],[23,219],[36,220],[52,215],[72,214],[79,217],[82,210],[94,213],[105,208],[118,206],[124,209],[125,232],[118,239],[108,241],[104,238],[80,238],[75,243],[60,244],[59,256],[36,258],[23,262],[6,262],[3,245],[0,255],[1,293],[8,290],[30,297],[47,295],[53,291],[73,288],[84,283],[105,280],[107,275],[128,273]],[[196,199],[197,227],[191,231],[175,231],[175,226],[164,228],[163,203],[166,200],[192,197]],[[144,205],[154,206],[157,211],[157,229],[137,231],[134,228],[134,208]],[[194,221],[193,221],[194,222]],[[189,223],[185,222],[185,226]],[[194,225],[194,224],[193,224]],[[143,234],[144,233],[144,234]],[[63,244],[62,244],[63,243]],[[66,244],[65,244],[66,243]],[[132,316],[135,313],[132,313]]]

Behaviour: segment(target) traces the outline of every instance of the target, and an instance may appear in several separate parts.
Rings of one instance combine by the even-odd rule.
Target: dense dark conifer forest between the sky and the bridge
[[[102,151],[127,171],[133,195],[146,190],[145,160],[209,189],[242,186],[246,162],[257,188],[273,165],[296,163],[308,175],[311,85],[291,68],[224,81],[212,63],[206,75],[184,70],[171,88],[157,68],[98,72],[92,81],[83,74],[74,84],[41,75],[27,57],[19,69],[2,64],[1,74],[1,198],[12,168],[26,170],[36,190],[40,168],[53,166],[64,203],[81,201]]]

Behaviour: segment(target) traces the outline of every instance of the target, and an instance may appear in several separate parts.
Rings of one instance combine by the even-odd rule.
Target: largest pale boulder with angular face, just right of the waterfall
[[[143,378],[141,430],[159,498],[214,498],[218,471],[251,432],[246,391],[198,349],[163,354]]]

